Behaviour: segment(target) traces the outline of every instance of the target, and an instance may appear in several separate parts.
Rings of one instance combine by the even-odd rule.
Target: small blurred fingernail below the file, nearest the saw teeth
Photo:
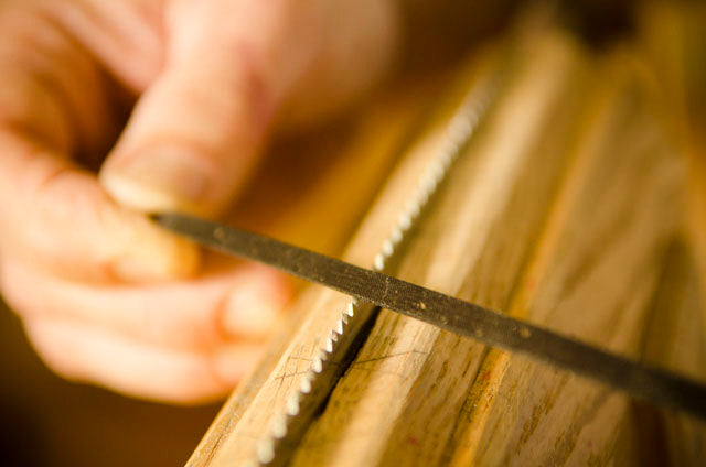
[[[234,336],[269,335],[282,307],[274,293],[257,287],[238,287],[226,300],[224,327]]]

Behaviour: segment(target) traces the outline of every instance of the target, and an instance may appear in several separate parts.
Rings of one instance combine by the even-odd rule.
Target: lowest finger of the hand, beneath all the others
[[[64,378],[171,403],[223,397],[261,351],[252,344],[212,354],[178,351],[58,321],[32,319],[25,329],[38,354]]]

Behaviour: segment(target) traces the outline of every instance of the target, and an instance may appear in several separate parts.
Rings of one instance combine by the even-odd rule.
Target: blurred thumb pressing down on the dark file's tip
[[[168,59],[108,155],[100,182],[122,205],[213,216],[254,167],[272,99],[252,57],[210,45]]]

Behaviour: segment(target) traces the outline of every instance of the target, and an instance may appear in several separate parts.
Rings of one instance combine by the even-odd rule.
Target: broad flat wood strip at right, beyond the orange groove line
[[[635,358],[677,225],[684,173],[630,56],[608,62],[574,169],[511,313]],[[469,426],[454,460],[624,463],[632,458],[620,452],[627,408],[622,394],[605,387],[491,350],[467,401]]]

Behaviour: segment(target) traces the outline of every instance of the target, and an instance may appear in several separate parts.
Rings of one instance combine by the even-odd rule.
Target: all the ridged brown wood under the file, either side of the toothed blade
[[[502,50],[506,52],[505,48]],[[683,164],[625,52],[557,31],[514,48],[512,78],[388,272],[639,357],[677,226]],[[461,96],[496,56],[460,74]],[[419,132],[344,258],[371,267],[452,105]],[[311,287],[190,460],[243,465],[350,302]],[[324,372],[325,373],[325,372]],[[383,311],[295,465],[605,465],[637,461],[625,397]],[[623,441],[625,441],[623,443]]]

